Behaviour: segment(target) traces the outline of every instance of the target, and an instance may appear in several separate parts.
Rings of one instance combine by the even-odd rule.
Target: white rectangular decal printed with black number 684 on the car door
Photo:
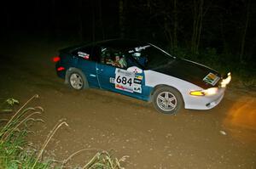
[[[116,69],[114,84],[115,88],[133,93],[133,81],[135,73],[127,70]]]

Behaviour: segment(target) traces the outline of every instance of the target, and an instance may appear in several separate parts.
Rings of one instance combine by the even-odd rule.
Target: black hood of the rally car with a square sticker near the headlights
[[[218,87],[220,74],[205,65],[200,65],[187,59],[175,59],[171,64],[154,69],[160,73],[174,76],[187,82],[191,82],[201,88]],[[207,81],[207,77],[213,76],[215,82]]]

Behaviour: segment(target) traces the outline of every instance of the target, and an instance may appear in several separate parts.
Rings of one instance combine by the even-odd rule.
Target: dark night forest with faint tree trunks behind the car
[[[135,38],[181,57],[252,68],[255,5],[253,0],[8,1],[1,5],[0,35],[79,42]]]

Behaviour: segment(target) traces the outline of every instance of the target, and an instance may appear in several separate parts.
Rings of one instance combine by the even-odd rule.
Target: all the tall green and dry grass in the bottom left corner
[[[31,169],[44,169],[44,168],[65,168],[68,161],[71,161],[75,155],[78,155],[86,150],[80,149],[79,151],[68,156],[67,159],[56,162],[54,159],[43,158],[44,149],[49,144],[51,138],[54,137],[55,132],[61,126],[68,127],[66,121],[58,121],[55,127],[49,132],[48,137],[45,139],[41,149],[34,149],[28,141],[26,141],[27,134],[32,132],[30,127],[34,122],[44,122],[42,119],[36,118],[44,112],[40,106],[28,107],[27,104],[32,99],[37,99],[38,95],[34,95],[31,99],[27,100],[15,114],[6,121],[6,124],[0,128],[0,168],[31,168]],[[15,104],[19,104],[16,99],[7,99],[1,104],[1,112],[13,112]],[[96,149],[93,149],[96,150]],[[96,155],[86,161],[84,166],[79,166],[83,169],[121,169],[124,168],[120,165],[124,162],[127,156],[121,159],[115,158],[111,153],[105,150],[96,150]]]

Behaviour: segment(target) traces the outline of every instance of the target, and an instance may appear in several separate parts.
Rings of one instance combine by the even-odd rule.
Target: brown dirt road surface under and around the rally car
[[[18,41],[18,42],[17,42]],[[212,110],[163,115],[151,104],[98,89],[74,91],[55,75],[51,58],[65,42],[23,41],[1,45],[0,99],[44,108],[33,144],[40,147],[55,124],[66,119],[46,147],[67,167],[83,166],[95,149],[128,155],[125,168],[256,168],[256,93],[233,79],[223,101]],[[72,42],[70,42],[72,43]]]

